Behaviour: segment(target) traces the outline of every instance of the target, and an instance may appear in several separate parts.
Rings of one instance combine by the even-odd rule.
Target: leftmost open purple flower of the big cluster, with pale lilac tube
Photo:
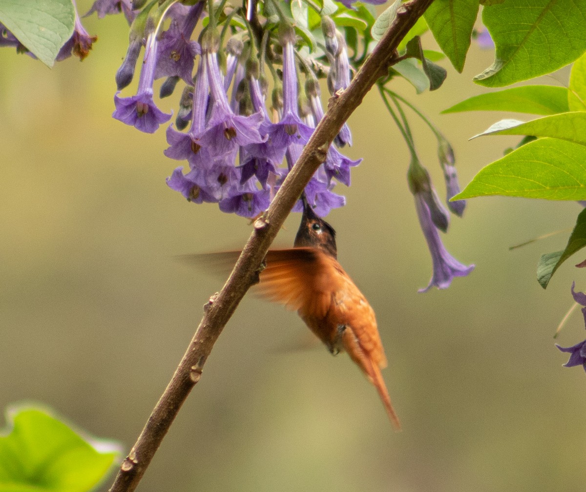
[[[132,97],[118,97],[120,92],[117,92],[114,95],[116,109],[112,117],[145,133],[154,133],[159,125],[171,118],[171,114],[163,113],[152,100],[156,44],[156,32],[152,29],[147,39],[137,94]]]

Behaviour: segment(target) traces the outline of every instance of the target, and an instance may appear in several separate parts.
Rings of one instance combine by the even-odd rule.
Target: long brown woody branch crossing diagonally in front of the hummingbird
[[[387,74],[396,49],[433,0],[410,0],[397,9],[397,17],[345,91],[331,98],[297,164],[265,212],[254,224],[236,266],[219,294],[204,307],[203,318],[169,385],[156,404],[141,435],[118,470],[110,492],[135,490],[179,408],[199,381],[203,364],[240,300],[254,283],[257,270],[301,192],[325,160],[329,145],[376,80]]]

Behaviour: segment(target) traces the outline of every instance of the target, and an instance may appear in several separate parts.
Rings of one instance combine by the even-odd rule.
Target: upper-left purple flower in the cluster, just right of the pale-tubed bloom
[[[188,8],[182,20],[171,20],[157,46],[155,79],[179,76],[186,84],[192,83],[193,60],[201,49],[199,43],[191,41],[190,37],[202,9],[203,2],[199,2]]]

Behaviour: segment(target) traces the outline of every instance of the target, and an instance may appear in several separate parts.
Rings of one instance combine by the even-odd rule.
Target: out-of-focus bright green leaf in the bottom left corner
[[[0,492],[86,492],[120,454],[111,442],[98,450],[36,408],[13,408],[6,420],[11,428],[0,436]]]

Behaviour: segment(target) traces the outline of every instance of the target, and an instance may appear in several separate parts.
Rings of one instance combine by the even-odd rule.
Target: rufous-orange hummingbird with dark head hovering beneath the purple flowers
[[[336,231],[315,214],[305,196],[294,247],[270,250],[257,289],[268,300],[297,311],[309,329],[336,355],[345,351],[374,385],[391,422],[401,424],[391,404],[381,369],[386,367],[374,310],[338,262]],[[216,262],[239,251],[186,255]]]

